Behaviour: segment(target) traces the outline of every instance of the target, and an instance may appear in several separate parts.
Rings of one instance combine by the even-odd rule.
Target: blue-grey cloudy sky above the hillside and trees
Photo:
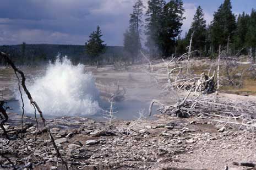
[[[100,25],[107,45],[122,46],[135,0],[1,0],[0,45],[54,43],[84,45]],[[143,0],[146,6],[148,0]],[[166,0],[168,1],[168,0]],[[200,5],[207,23],[224,0],[183,0],[188,31]],[[233,13],[250,13],[255,0],[231,0]]]

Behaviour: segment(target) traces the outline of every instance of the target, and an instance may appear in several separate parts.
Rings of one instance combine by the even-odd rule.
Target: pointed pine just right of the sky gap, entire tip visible
[[[199,50],[203,52],[205,50],[206,45],[206,20],[204,19],[203,9],[198,6],[197,11],[195,12],[194,19],[192,25],[187,34],[187,42],[189,42],[191,36],[193,34],[193,48],[194,50]]]

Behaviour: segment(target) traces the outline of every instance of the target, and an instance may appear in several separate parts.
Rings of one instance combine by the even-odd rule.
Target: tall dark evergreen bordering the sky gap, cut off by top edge
[[[176,39],[181,33],[184,8],[181,0],[172,0],[164,6],[158,45],[164,57],[175,52]]]

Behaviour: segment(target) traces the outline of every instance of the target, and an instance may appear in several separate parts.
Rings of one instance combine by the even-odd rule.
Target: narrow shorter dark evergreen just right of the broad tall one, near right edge
[[[248,31],[248,24],[249,24],[249,15],[239,14],[237,19],[237,26],[236,26],[236,34],[235,34],[235,48],[240,50],[244,46],[246,46],[246,35]]]

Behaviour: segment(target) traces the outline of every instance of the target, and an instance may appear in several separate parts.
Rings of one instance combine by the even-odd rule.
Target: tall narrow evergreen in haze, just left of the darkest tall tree
[[[150,56],[157,56],[159,53],[159,32],[161,30],[162,18],[164,15],[164,0],[149,0],[146,11],[146,43],[150,50]]]

